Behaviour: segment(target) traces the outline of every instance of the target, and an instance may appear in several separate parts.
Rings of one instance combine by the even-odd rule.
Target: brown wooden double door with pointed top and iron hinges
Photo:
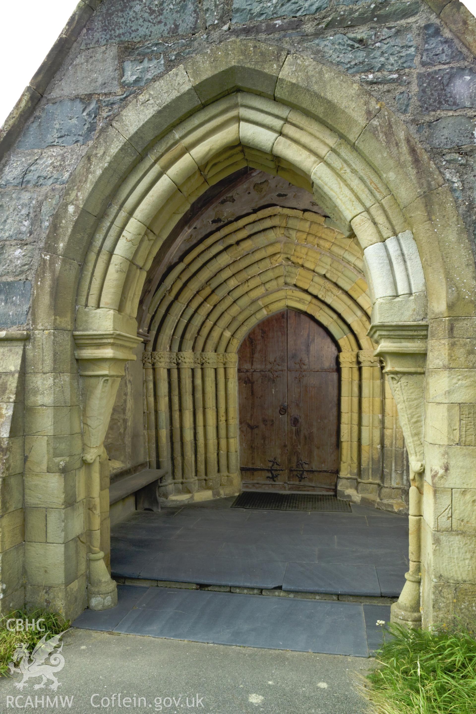
[[[338,349],[303,313],[265,319],[238,351],[243,489],[335,493]]]

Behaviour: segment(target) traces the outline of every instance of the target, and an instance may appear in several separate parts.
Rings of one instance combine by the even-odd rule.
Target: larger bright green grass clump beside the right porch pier
[[[476,639],[465,627],[390,624],[378,666],[358,688],[370,714],[476,714]]]

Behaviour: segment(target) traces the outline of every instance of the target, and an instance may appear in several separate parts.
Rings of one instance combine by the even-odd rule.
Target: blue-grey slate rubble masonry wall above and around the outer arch
[[[234,36],[265,40],[352,74],[425,146],[474,235],[475,58],[425,2],[146,0],[141,13],[134,7],[129,0],[80,2],[70,39],[60,42],[64,61],[54,78],[46,85],[44,68],[33,81],[44,96],[0,166],[0,282],[15,283],[0,287],[0,326],[28,324],[21,318],[29,311],[25,283],[34,277],[62,186],[96,132],[149,81]],[[449,15],[446,6],[442,18]]]

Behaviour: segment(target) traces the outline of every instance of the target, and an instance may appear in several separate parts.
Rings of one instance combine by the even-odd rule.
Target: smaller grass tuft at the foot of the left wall
[[[6,627],[6,621],[9,620],[9,618],[19,620],[26,620],[28,618],[30,622],[33,618],[35,620],[44,618],[41,627],[45,628],[45,630],[44,632],[39,632],[39,630],[12,632]],[[69,620],[65,620],[64,617],[58,613],[49,613],[47,610],[42,610],[41,608],[37,608],[36,610],[12,610],[8,615],[4,615],[4,617],[0,619],[0,676],[4,677],[9,675],[11,657],[19,645],[25,643],[31,652],[44,635],[46,635],[46,639],[53,637],[53,635],[59,635],[59,633],[69,628],[69,624]]]

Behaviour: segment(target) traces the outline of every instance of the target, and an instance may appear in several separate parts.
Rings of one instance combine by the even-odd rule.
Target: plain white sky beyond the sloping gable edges
[[[463,2],[476,15],[476,0]],[[66,25],[76,4],[77,0],[1,2],[0,126]]]

